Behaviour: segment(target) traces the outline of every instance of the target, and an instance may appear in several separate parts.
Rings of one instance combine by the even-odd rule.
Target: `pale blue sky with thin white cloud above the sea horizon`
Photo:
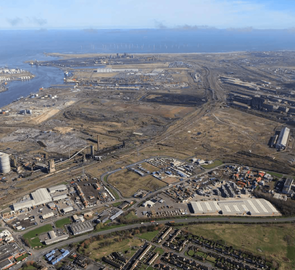
[[[295,27],[295,0],[0,0],[0,29]]]

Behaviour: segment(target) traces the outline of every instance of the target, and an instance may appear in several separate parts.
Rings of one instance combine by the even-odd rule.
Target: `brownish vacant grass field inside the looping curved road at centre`
[[[109,175],[108,182],[119,189],[125,197],[132,196],[139,188],[154,191],[166,186],[165,183],[151,175],[141,177],[127,169]]]

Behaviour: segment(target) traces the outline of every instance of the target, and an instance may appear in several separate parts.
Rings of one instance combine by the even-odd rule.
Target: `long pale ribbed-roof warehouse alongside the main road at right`
[[[190,205],[194,214],[247,214],[251,216],[279,215],[278,210],[265,199],[192,201]]]

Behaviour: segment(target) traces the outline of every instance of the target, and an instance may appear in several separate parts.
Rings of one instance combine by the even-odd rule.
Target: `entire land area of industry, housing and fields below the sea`
[[[0,270],[294,269],[294,52],[47,56],[0,112]]]

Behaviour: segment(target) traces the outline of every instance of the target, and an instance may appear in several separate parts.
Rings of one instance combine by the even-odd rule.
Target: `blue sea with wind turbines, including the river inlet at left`
[[[52,60],[44,53],[224,53],[295,50],[295,32],[245,29],[0,30],[0,67],[21,68],[34,79],[8,82],[0,108],[40,87],[63,84],[58,68],[24,64]]]

